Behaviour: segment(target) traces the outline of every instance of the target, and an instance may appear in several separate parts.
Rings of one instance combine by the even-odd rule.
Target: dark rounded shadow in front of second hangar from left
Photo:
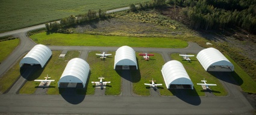
[[[65,99],[65,101],[74,105],[80,104],[81,102],[84,101],[84,98],[86,97],[86,95],[76,94],[77,92],[79,92],[79,90],[76,88],[64,88],[64,89],[59,88],[59,92],[62,98]]]

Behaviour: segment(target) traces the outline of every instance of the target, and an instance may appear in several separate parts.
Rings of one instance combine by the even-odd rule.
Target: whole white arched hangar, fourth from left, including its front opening
[[[161,72],[167,89],[193,89],[193,82],[180,61],[168,61]]]

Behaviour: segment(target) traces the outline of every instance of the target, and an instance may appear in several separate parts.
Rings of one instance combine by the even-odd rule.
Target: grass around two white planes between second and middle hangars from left
[[[87,63],[90,65],[90,79],[87,84],[86,95],[93,95],[95,93],[95,84],[92,85],[92,81],[99,81],[99,77],[103,77],[103,81],[111,81],[107,84],[105,95],[119,95],[121,92],[121,76],[119,71],[114,70],[114,55],[116,52],[106,52],[112,54],[105,60],[99,58],[96,53],[102,53],[99,51],[90,52],[87,57]]]

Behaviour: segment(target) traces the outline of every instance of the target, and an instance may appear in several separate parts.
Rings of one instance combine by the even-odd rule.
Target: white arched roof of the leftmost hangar
[[[52,55],[51,49],[45,45],[36,45],[28,52],[25,57],[20,60],[19,66],[21,67],[24,63],[27,64],[40,64],[43,68],[46,62]]]

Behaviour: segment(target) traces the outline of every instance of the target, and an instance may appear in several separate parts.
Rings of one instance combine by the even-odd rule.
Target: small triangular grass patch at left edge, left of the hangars
[[[0,63],[5,60],[5,58],[8,57],[8,55],[11,54],[11,52],[19,45],[19,39],[14,40],[6,40],[3,42],[0,42]]]

